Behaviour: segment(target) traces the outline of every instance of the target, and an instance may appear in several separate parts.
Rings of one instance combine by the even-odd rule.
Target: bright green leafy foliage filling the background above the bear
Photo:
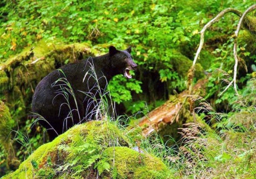
[[[0,44],[3,48],[0,49],[0,61],[6,61],[10,55],[21,52],[41,39],[49,43],[88,42],[91,47],[97,48],[97,45],[99,49],[106,49],[103,46],[110,44],[118,48],[132,45],[140,73],[148,71],[156,74],[156,77],[159,75],[168,93],[172,93],[173,89],[181,92],[186,88],[184,74],[187,73],[187,69],[177,71],[179,63],[172,61],[173,49],[178,49],[191,60],[194,46],[199,42],[197,32],[213,14],[227,7],[245,9],[252,2],[22,0],[4,1],[2,4]],[[233,33],[232,25],[237,21],[232,16],[231,20],[228,19],[218,24],[223,29],[221,33],[213,31],[207,34],[206,39],[223,40],[226,38],[224,34]],[[227,26],[228,23],[231,24]],[[232,40],[217,48],[220,51],[216,49],[215,55],[229,58],[227,54],[231,52],[229,47]],[[249,53],[246,51],[245,55]],[[207,68],[219,68],[224,61],[225,68],[229,70],[233,61],[225,58],[219,58],[218,63]],[[144,79],[140,75],[137,78],[139,81],[132,81],[134,84],[124,88],[121,83],[125,82],[115,78],[113,83],[117,86],[111,87],[114,100],[118,103],[129,101],[130,90],[140,93],[141,82],[146,83]]]

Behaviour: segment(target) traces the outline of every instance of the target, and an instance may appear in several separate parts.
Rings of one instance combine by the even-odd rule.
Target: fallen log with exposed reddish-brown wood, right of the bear
[[[205,84],[208,78],[201,79],[193,87],[195,95],[205,96]],[[138,125],[142,128],[142,134],[149,136],[153,131],[159,132],[167,125],[174,123],[185,124],[194,121],[194,116],[190,110],[189,90],[170,96],[170,99],[158,108],[150,111],[146,116],[139,119]],[[185,117],[185,120],[184,120]]]

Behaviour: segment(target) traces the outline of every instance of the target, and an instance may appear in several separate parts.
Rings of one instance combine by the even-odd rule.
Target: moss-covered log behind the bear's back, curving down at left
[[[63,64],[82,60],[95,51],[87,44],[71,45],[37,43],[35,48],[0,63],[0,97],[18,118],[27,116],[36,84]]]

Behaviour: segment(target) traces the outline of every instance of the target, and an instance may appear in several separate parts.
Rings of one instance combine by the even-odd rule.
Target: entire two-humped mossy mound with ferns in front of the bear
[[[130,146],[109,121],[75,125],[3,178],[168,178],[161,160]]]

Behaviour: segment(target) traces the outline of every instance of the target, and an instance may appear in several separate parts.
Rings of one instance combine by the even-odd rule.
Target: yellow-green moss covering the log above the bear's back
[[[0,63],[0,84],[2,92],[14,86],[23,89],[31,88],[33,81],[39,82],[45,75],[63,64],[82,60],[84,55],[91,55],[88,44],[46,43],[43,40],[36,47],[26,48],[20,54]],[[8,83],[7,83],[8,82]],[[3,84],[3,85],[2,85]],[[0,92],[0,96],[3,95]]]

